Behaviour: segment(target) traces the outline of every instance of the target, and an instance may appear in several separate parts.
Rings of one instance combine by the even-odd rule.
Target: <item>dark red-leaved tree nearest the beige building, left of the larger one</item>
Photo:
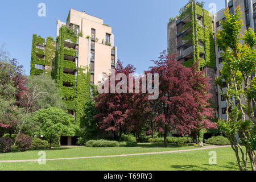
[[[114,75],[122,73],[127,78],[129,78],[129,74],[134,73],[135,68],[133,65],[127,65],[123,67],[121,61],[118,60],[117,67],[115,68]],[[110,92],[111,82],[110,75],[108,76],[109,82],[109,94],[102,93],[100,96],[95,98],[96,101],[96,109],[98,110],[97,115],[94,116],[95,119],[99,121],[100,129],[105,131],[113,131],[114,136],[116,132],[119,131],[119,141],[121,142],[122,132],[127,128],[127,111],[130,107],[130,100],[133,94],[128,94],[129,86],[122,85],[122,89],[127,92],[126,93],[117,93],[115,90],[114,93]],[[119,83],[118,80],[115,80],[114,86]]]

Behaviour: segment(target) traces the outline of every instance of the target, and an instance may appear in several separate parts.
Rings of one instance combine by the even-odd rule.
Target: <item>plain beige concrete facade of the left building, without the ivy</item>
[[[104,73],[110,74],[110,69],[117,62],[117,47],[114,47],[114,35],[112,27],[104,24],[104,20],[85,11],[71,9],[69,11],[67,26],[79,26],[79,57],[78,67],[90,67],[92,73],[91,82],[99,84]],[[94,37],[92,30],[95,31]],[[107,35],[109,39],[107,40]],[[94,56],[93,56],[94,53]],[[94,59],[93,59],[94,58]]]

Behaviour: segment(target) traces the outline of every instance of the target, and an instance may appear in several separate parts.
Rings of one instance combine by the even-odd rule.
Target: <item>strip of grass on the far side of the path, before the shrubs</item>
[[[89,148],[89,147],[58,147],[46,151],[47,159],[56,158],[76,158],[86,156],[103,156],[103,155],[122,155],[122,154],[137,154],[144,152],[162,152],[172,150],[186,150],[195,148],[192,146],[176,147],[169,144],[164,147],[162,143],[141,143],[137,147],[107,147],[107,148]],[[0,154],[0,160],[26,160],[38,159],[39,151],[11,152]]]

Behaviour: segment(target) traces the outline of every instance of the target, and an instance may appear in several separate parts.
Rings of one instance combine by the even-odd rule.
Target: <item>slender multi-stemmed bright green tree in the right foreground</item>
[[[220,86],[227,105],[227,118],[219,120],[218,124],[232,145],[240,170],[247,170],[249,156],[251,168],[256,171],[256,36],[251,28],[245,31],[244,36],[240,33],[243,25],[241,14],[240,7],[234,15],[227,9],[225,20],[221,21],[222,30],[217,34],[217,44],[223,50],[223,67],[216,84]],[[245,146],[245,150],[240,143]]]

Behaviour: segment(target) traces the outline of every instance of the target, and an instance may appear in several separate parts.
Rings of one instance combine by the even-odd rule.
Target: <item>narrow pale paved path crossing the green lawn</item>
[[[175,153],[175,152],[189,152],[189,151],[207,150],[207,149],[214,149],[214,148],[221,148],[221,147],[230,147],[230,146],[207,146],[207,147],[200,147],[200,148],[188,149],[188,150],[174,150],[174,151],[164,151],[164,152],[148,152],[148,153],[141,153],[141,154],[125,154],[125,155],[89,156],[89,157],[80,157],[80,158],[59,158],[59,159],[46,159],[46,160],[115,158],[115,157],[135,156],[135,155],[170,154],[170,153]],[[30,159],[30,160],[0,160],[0,163],[18,163],[18,162],[38,162],[38,159]]]

